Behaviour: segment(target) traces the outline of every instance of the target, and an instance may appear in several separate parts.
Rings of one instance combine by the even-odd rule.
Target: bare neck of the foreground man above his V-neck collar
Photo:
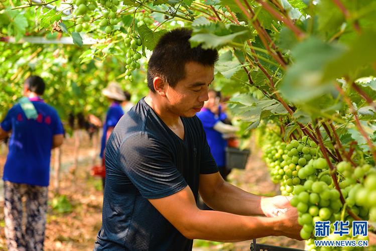
[[[168,110],[168,108],[163,104],[159,97],[153,93],[149,93],[145,97],[145,102],[152,107],[155,113],[165,122],[168,127],[177,127],[181,123],[180,116],[173,114]]]

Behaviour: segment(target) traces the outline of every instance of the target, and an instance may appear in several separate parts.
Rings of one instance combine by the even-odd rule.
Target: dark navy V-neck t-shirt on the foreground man
[[[117,123],[106,145],[102,228],[94,250],[191,250],[148,199],[187,185],[197,201],[200,174],[218,172],[200,120],[181,118],[184,140],[141,99]]]

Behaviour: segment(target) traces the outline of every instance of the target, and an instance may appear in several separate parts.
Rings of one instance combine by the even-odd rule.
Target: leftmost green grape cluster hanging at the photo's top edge
[[[88,0],[73,0],[72,4],[76,5],[73,14],[76,16],[76,26],[74,28],[75,32],[81,32],[82,30],[90,29],[90,17],[88,13],[94,11],[97,8],[96,1]]]

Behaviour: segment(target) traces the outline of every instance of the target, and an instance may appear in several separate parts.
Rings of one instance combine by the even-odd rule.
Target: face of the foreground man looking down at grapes
[[[176,115],[192,117],[208,100],[208,87],[214,79],[214,67],[189,62],[185,64],[185,73],[185,78],[175,87],[167,86],[167,108]]]

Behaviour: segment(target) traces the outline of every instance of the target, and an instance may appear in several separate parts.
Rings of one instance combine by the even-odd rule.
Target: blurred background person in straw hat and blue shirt
[[[103,123],[103,135],[100,144],[100,158],[103,159],[107,139],[110,136],[113,128],[116,126],[117,121],[119,121],[121,116],[124,114],[121,107],[121,102],[126,100],[126,97],[124,96],[124,92],[122,91],[121,87],[115,82],[109,83],[108,86],[102,90],[102,94],[111,102],[107,110],[106,119]],[[104,190],[105,176],[102,176],[102,181]]]

